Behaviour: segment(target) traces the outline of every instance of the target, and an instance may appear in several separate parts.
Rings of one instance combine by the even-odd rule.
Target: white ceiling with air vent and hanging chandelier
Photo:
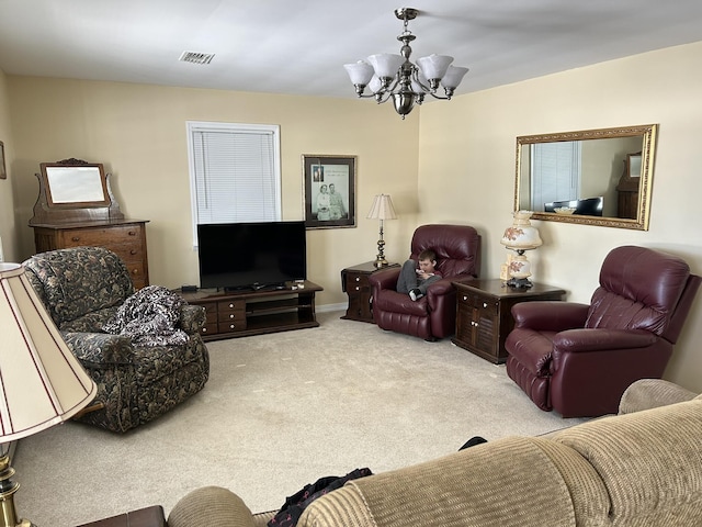
[[[471,68],[456,93],[702,41],[702,1],[411,0],[412,58]],[[355,97],[342,67],[399,53],[397,0],[0,0],[0,69]],[[208,65],[183,52],[214,54]]]

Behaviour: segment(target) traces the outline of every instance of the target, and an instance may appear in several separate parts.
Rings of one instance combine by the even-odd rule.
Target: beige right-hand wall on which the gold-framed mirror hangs
[[[456,98],[422,108],[420,222],[464,222],[484,235],[483,274],[497,278],[507,251],[518,135],[659,123],[648,232],[534,222],[544,245],[528,256],[534,279],[587,302],[607,253],[633,244],[683,257],[702,273],[694,211],[702,195],[702,43]],[[465,79],[469,82],[469,75]],[[666,377],[702,391],[702,292]]]

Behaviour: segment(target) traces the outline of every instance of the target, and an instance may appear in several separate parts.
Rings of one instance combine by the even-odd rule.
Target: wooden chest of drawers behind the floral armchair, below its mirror
[[[73,224],[33,225],[37,253],[67,247],[105,247],[127,266],[136,289],[149,284],[146,221],[115,220]]]

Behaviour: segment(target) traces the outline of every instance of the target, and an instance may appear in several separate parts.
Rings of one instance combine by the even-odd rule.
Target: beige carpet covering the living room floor
[[[207,345],[205,389],[126,435],[67,423],[21,441],[19,514],[44,527],[144,506],[170,511],[222,485],[254,512],[324,475],[396,469],[581,419],[541,412],[491,365],[453,346],[318,314],[314,329]]]

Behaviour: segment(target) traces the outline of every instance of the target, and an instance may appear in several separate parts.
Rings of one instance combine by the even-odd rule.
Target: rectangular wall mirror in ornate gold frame
[[[514,211],[648,231],[657,124],[517,137]]]

